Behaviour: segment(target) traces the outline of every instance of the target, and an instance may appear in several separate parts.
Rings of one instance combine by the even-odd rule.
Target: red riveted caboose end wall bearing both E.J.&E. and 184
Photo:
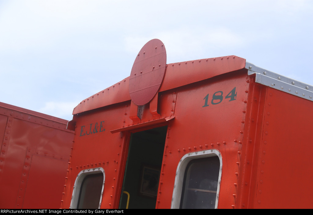
[[[162,184],[159,186],[161,193],[158,194],[156,208],[171,207],[175,172],[182,156],[190,151],[207,149],[217,149],[223,159],[218,207],[231,208],[235,204],[234,184],[238,183],[235,173],[238,172],[237,162],[241,158],[238,152],[241,151],[243,141],[243,134],[240,131],[244,130],[243,111],[247,106],[248,94],[245,91],[249,89],[248,79],[250,77],[246,71],[240,70],[159,93],[158,106],[161,118],[171,116],[175,118],[168,121],[163,174],[160,178]],[[230,98],[225,99],[234,88],[237,93],[236,99],[232,101],[229,101]],[[212,95],[218,91],[223,91],[223,100],[219,104],[212,105]],[[203,107],[207,94],[209,94],[208,106]],[[218,101],[213,102],[218,103]],[[130,102],[110,105],[78,116],[69,179],[66,182],[64,202],[61,207],[69,208],[77,174],[83,169],[100,166],[105,170],[101,208],[118,207],[129,133],[126,131],[112,134],[110,131],[132,125],[133,122],[129,118]],[[155,119],[147,105],[141,123]],[[101,121],[104,121],[105,131],[88,134],[94,129],[95,123],[100,125]],[[82,129],[82,126],[85,127]]]

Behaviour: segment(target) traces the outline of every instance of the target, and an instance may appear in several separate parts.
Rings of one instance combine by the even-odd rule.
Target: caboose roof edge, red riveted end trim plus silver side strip
[[[235,55],[167,64],[159,92],[239,69],[247,69],[249,75],[256,74],[257,83],[304,99],[313,100],[312,85],[256,67],[246,62],[246,59]],[[129,94],[129,77],[81,101],[74,108],[73,115],[128,100],[131,100]]]

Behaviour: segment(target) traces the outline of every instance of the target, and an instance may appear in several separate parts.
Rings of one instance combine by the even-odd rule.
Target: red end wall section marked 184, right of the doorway
[[[229,74],[185,86],[177,92],[175,119],[169,125],[166,156],[163,159],[161,194],[157,208],[171,207],[177,165],[186,153],[217,149],[222,154],[223,171],[219,192],[219,208],[232,208],[234,184],[238,183],[241,148],[243,144],[244,113],[249,83],[246,74]],[[225,96],[236,87],[236,100]],[[205,106],[205,97],[223,91],[221,103],[213,105],[212,97]],[[216,94],[220,95],[220,93]],[[213,101],[214,102],[214,101]],[[218,101],[215,101],[217,103]],[[203,107],[205,106],[205,107]],[[239,153],[238,153],[239,152]]]

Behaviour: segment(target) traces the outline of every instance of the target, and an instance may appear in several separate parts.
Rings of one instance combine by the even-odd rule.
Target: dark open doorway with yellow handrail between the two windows
[[[155,208],[167,126],[131,134],[120,209]],[[124,192],[125,191],[125,192]]]

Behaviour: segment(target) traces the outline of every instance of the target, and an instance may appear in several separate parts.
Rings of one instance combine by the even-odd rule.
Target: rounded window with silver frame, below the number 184
[[[213,150],[186,154],[177,166],[172,208],[217,208],[222,158]]]

